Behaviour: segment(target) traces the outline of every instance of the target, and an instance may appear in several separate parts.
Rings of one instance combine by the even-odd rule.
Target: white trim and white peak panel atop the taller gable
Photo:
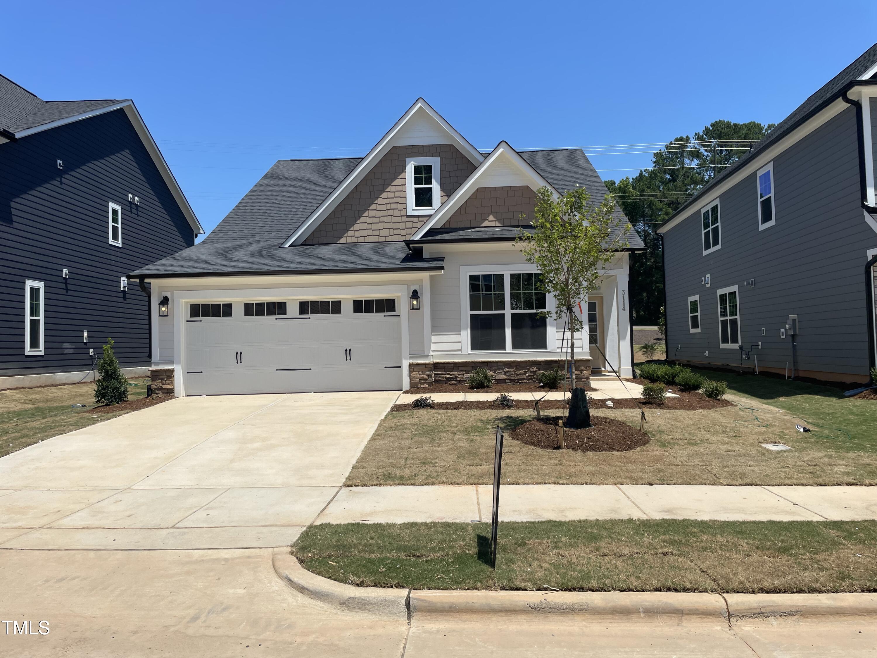
[[[424,118],[429,122],[438,124],[440,130],[443,131],[446,136],[446,141],[439,142],[437,139],[440,138],[435,134],[418,135],[418,131],[416,130],[411,131],[411,134],[405,134],[403,130],[405,126],[408,125],[412,119],[412,124],[416,123],[417,118]],[[412,127],[417,128],[417,126],[413,125]],[[458,147],[460,151],[476,165],[481,164],[481,161],[484,160],[484,155],[481,154],[477,148],[472,146],[467,139],[460,134],[460,132],[457,132],[452,125],[447,123],[439,112],[433,110],[430,104],[424,101],[423,98],[417,98],[417,101],[415,101],[409,110],[402,115],[402,118],[396,121],[396,124],[389,129],[389,132],[387,132],[387,134],[385,134],[381,140],[374,145],[366,157],[364,157],[359,164],[353,168],[353,171],[346,175],[346,178],[339,183],[335,190],[332,190],[332,194],[326,197],[323,203],[317,206],[317,210],[311,212],[310,217],[305,219],[302,225],[300,225],[296,231],[293,232],[285,242],[283,242],[282,247],[300,245],[304,240],[307,240],[310,233],[317,228],[320,222],[329,216],[329,213],[344,200],[347,194],[353,190],[353,187],[355,187],[356,184],[359,183],[366,174],[372,170],[372,168],[374,168],[374,165],[389,152],[390,148],[397,145],[405,146],[412,144],[439,143],[453,144],[453,146]]]

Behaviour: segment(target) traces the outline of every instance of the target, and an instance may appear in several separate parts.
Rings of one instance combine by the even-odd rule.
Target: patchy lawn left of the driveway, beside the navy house
[[[146,397],[143,378],[129,381],[128,399]],[[85,404],[84,408],[72,404]],[[0,457],[38,441],[73,432],[131,411],[91,413],[95,384],[85,382],[35,389],[0,390]]]

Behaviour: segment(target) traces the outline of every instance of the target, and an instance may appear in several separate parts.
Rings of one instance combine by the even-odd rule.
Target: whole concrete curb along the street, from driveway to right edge
[[[300,594],[340,610],[396,619],[551,614],[575,616],[579,621],[589,618],[600,623],[656,626],[776,624],[782,620],[874,619],[877,623],[877,594],[390,590],[355,587],[317,576],[304,569],[289,548],[276,548],[273,557],[277,576]]]

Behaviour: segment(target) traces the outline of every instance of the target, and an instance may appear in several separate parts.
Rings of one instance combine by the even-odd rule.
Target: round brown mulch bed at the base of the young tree
[[[560,418],[534,418],[509,433],[509,438],[544,450],[560,450],[557,421]],[[620,420],[591,416],[593,427],[587,430],[564,428],[567,450],[582,453],[623,453],[645,446],[649,435]]]

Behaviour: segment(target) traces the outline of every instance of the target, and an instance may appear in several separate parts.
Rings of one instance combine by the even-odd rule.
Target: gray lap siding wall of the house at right
[[[796,313],[797,370],[866,375],[862,258],[877,246],[877,233],[862,218],[852,108],[774,158],[774,194],[776,225],[759,231],[755,174],[725,191],[722,248],[706,256],[699,210],[665,234],[668,353],[738,365],[737,348],[719,347],[717,300],[717,290],[738,285],[741,345],[756,346],[760,368],[783,370],[791,361],[791,341],[780,329]],[[703,197],[701,207],[713,198]],[[701,284],[707,274],[709,288]],[[754,287],[745,286],[750,279]],[[700,295],[700,333],[688,332],[692,295]]]

